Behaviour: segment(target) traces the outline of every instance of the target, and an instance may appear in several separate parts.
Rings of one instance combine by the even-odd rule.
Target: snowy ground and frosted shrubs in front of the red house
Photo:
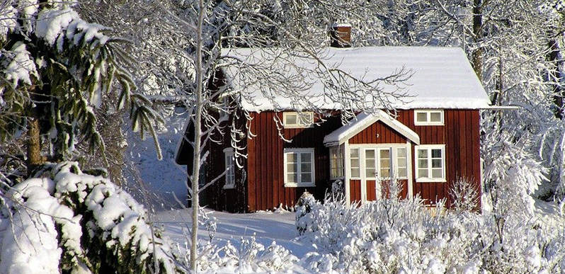
[[[296,213],[207,211],[207,224],[200,225],[201,244],[206,246],[203,243],[212,239],[217,250],[231,252],[208,256],[215,263],[201,260],[200,267],[205,273],[549,274],[565,270],[564,219],[554,203],[537,201],[535,216],[508,219],[501,244],[491,215],[463,212],[433,217],[429,210],[421,211],[418,202],[394,200],[351,210],[341,202],[310,202],[312,212],[305,215],[304,207]],[[396,224],[370,224],[383,210]],[[359,214],[371,211],[372,217]],[[297,215],[304,215],[298,222],[300,236]],[[188,210],[158,212],[156,219],[166,236],[178,246],[186,245]],[[212,234],[211,223],[216,224]],[[272,252],[273,246],[279,252]],[[232,263],[227,263],[230,259]]]

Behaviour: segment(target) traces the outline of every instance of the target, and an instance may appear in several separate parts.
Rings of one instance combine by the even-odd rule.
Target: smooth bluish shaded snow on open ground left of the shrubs
[[[190,209],[170,210],[156,214],[156,224],[163,226],[164,234],[179,245],[183,246],[189,236],[191,219]],[[314,251],[312,244],[300,242],[295,239],[297,229],[295,226],[295,212],[256,212],[247,214],[234,214],[227,212],[213,212],[217,219],[217,229],[212,243],[224,246],[230,241],[236,248],[242,238],[251,239],[263,246],[270,246],[273,241],[279,246],[292,251],[292,254],[302,258],[306,253]],[[200,225],[198,236],[200,241],[210,239],[205,226]]]

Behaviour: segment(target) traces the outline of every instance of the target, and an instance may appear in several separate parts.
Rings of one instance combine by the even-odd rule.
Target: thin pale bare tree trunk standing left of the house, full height
[[[196,25],[196,109],[195,109],[195,121],[194,121],[194,157],[193,157],[193,173],[192,173],[192,209],[193,209],[193,229],[191,240],[192,245],[190,246],[190,268],[193,273],[198,270],[198,181],[200,181],[200,149],[201,149],[201,139],[202,139],[202,96],[204,89],[202,86],[202,79],[204,78],[202,74],[202,25],[204,22],[204,1],[200,0],[198,2],[198,25]]]

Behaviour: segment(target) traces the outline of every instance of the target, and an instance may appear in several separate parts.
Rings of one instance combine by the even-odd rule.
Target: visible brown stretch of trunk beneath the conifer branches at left
[[[28,139],[26,146],[28,154],[28,176],[31,176],[34,169],[44,164],[41,157],[39,113],[37,106],[31,108],[29,117],[30,120],[28,121]]]

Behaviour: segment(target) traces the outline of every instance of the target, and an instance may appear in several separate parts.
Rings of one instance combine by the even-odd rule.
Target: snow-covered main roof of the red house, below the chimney
[[[261,62],[266,52],[257,49],[226,49],[222,54],[247,57],[248,62]],[[396,109],[413,108],[488,108],[490,101],[481,82],[462,49],[458,47],[328,47],[321,55],[330,67],[338,67],[357,78],[365,80],[389,76],[400,69],[409,70],[413,75],[402,86],[406,97],[401,101],[389,98]],[[268,62],[276,58],[268,58]],[[251,61],[249,61],[251,60]],[[277,62],[277,61],[274,61]],[[305,66],[313,62],[302,61]],[[281,70],[284,69],[281,66]],[[290,69],[292,71],[292,69]],[[228,72],[234,74],[234,72]],[[311,88],[304,96],[319,97],[314,104],[322,109],[339,109],[339,102],[324,100],[324,84],[308,76]],[[229,79],[229,85],[237,91],[249,93],[253,103],[244,101],[246,110],[260,112],[275,110],[275,106],[262,93],[261,82],[244,83],[239,77]],[[396,86],[381,82],[379,87],[392,92]],[[276,98],[277,110],[292,109],[292,98]]]

